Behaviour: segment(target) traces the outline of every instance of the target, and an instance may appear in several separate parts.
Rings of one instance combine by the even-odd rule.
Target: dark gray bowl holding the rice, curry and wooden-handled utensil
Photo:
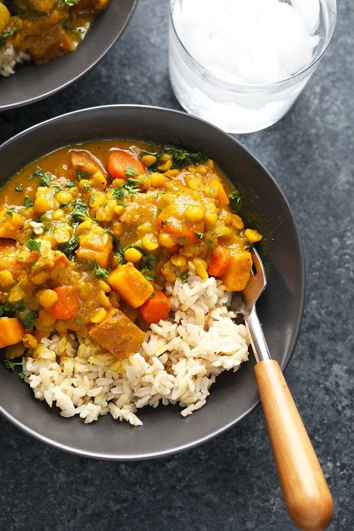
[[[193,116],[144,106],[84,109],[33,126],[0,147],[1,178],[6,181],[33,159],[61,145],[92,139],[131,138],[200,150],[218,162],[242,191],[249,216],[265,235],[261,254],[268,287],[257,307],[272,356],[284,369],[295,348],[304,307],[303,246],[289,204],[267,170],[228,134]],[[253,356],[237,373],[223,373],[206,405],[183,418],[178,406],[143,408],[144,425],[132,427],[110,415],[86,425],[64,419],[15,373],[0,364],[0,410],[16,426],[41,441],[80,455],[106,459],[144,459],[168,455],[206,442],[254,409],[258,394]]]

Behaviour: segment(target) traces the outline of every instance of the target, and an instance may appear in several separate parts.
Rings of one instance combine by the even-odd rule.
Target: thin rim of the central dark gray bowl
[[[16,142],[17,140],[19,140],[23,136],[29,135],[32,131],[41,129],[42,127],[47,127],[50,124],[55,124],[55,122],[62,121],[63,119],[65,120],[68,117],[79,116],[79,115],[85,114],[85,113],[97,112],[97,111],[100,111],[100,110],[103,110],[103,109],[110,110],[110,109],[115,109],[115,108],[132,109],[132,111],[134,109],[137,109],[137,110],[139,110],[139,109],[157,110],[158,112],[164,112],[164,113],[166,113],[168,115],[170,113],[177,114],[177,115],[183,115],[185,117],[188,117],[187,119],[191,119],[192,121],[197,121],[197,122],[200,122],[202,124],[208,125],[208,127],[212,127],[213,129],[217,130],[218,133],[221,133],[222,135],[226,135],[229,139],[231,139],[233,142],[235,142],[235,144],[237,144],[239,148],[241,148],[242,150],[246,151],[247,155],[249,157],[251,157],[256,162],[256,164],[261,167],[261,169],[263,170],[263,172],[266,173],[267,177],[270,179],[272,184],[277,188],[279,194],[281,195],[282,200],[284,201],[284,203],[286,204],[287,208],[289,209],[289,213],[290,213],[291,220],[292,220],[292,223],[293,223],[294,233],[296,235],[296,238],[297,238],[297,241],[298,241],[298,246],[299,246],[299,266],[300,266],[299,267],[299,272],[298,272],[299,273],[299,284],[300,284],[299,312],[296,315],[296,322],[295,322],[295,325],[293,326],[294,335],[293,335],[293,341],[292,341],[291,348],[289,349],[289,352],[287,353],[287,356],[280,363],[281,370],[282,370],[282,372],[284,372],[287,369],[287,367],[289,365],[289,362],[290,362],[290,359],[291,359],[291,357],[293,355],[293,352],[294,352],[294,350],[296,348],[297,341],[298,341],[298,338],[299,338],[301,323],[303,321],[303,316],[304,316],[305,295],[306,295],[306,265],[305,265],[304,244],[303,244],[303,240],[301,238],[300,229],[299,229],[297,220],[296,220],[295,215],[294,215],[294,213],[292,211],[290,203],[289,203],[288,199],[286,198],[286,195],[281,190],[280,186],[278,185],[277,181],[275,181],[274,177],[265,168],[265,166],[257,159],[257,157],[255,157],[253,155],[253,153],[251,153],[251,151],[249,151],[248,148],[246,148],[241,142],[239,142],[239,140],[235,139],[231,134],[226,133],[225,131],[221,130],[219,127],[216,127],[216,126],[210,124],[209,122],[206,122],[202,118],[197,118],[197,117],[195,117],[193,115],[189,115],[189,114],[187,114],[187,113],[185,113],[183,111],[180,111],[180,110],[169,109],[169,108],[158,107],[158,106],[150,106],[150,105],[115,104],[115,105],[94,106],[94,107],[88,107],[88,108],[84,108],[84,109],[74,110],[74,111],[59,115],[59,116],[55,116],[53,118],[49,118],[49,119],[47,119],[47,120],[45,120],[43,122],[40,122],[38,124],[34,124],[34,125],[28,127],[27,129],[15,134],[10,139],[7,139],[5,142],[3,142],[0,145],[0,154],[1,154],[1,151],[3,151],[4,149],[7,148],[8,145]],[[100,140],[100,139],[97,138],[97,140]],[[61,145],[63,146],[63,144],[61,144]],[[59,147],[61,147],[61,145],[57,145],[57,146],[53,147],[53,150],[54,149],[58,149]],[[294,321],[295,321],[295,319],[294,319]],[[194,440],[192,442],[188,442],[188,443],[185,443],[185,444],[180,444],[179,446],[174,446],[172,448],[169,448],[168,450],[160,450],[160,451],[156,451],[156,452],[150,452],[149,454],[146,454],[146,455],[142,455],[140,453],[137,453],[136,455],[133,454],[133,455],[130,455],[128,457],[125,457],[124,455],[119,455],[119,454],[107,455],[107,454],[102,454],[102,453],[99,453],[99,452],[96,452],[96,451],[85,451],[85,450],[80,450],[80,449],[74,448],[74,447],[69,446],[69,445],[58,443],[55,440],[50,439],[50,438],[48,438],[45,435],[41,435],[40,433],[37,433],[35,430],[32,430],[28,426],[24,425],[22,422],[18,421],[18,419],[16,419],[14,416],[12,416],[10,413],[8,413],[3,408],[1,403],[0,403],[0,413],[5,418],[7,418],[12,424],[14,424],[20,430],[22,430],[23,432],[31,435],[34,439],[37,439],[37,440],[39,440],[41,442],[49,444],[49,446],[54,447],[56,449],[64,450],[64,451],[72,453],[74,455],[83,456],[83,457],[90,457],[90,458],[95,458],[95,459],[105,459],[105,460],[110,460],[110,461],[135,461],[135,460],[154,459],[154,458],[160,458],[160,457],[165,457],[165,456],[169,456],[169,455],[174,455],[175,453],[179,453],[179,452],[185,451],[187,449],[199,446],[200,444],[203,444],[203,443],[213,439],[215,436],[220,435],[221,433],[229,430],[232,426],[235,426],[236,424],[238,424],[238,422],[240,422],[243,418],[245,418],[247,415],[249,415],[258,405],[260,405],[260,399],[259,398],[243,414],[241,414],[237,418],[233,419],[231,422],[223,425],[222,427],[220,427],[220,428],[208,433],[207,435],[204,435],[204,436],[202,436],[202,437],[200,437],[200,438],[198,438],[198,439],[196,439],[196,440]]]

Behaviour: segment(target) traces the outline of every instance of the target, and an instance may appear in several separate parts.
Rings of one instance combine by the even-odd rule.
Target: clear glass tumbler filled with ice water
[[[230,133],[269,127],[314,72],[336,14],[336,0],[170,0],[176,98]]]

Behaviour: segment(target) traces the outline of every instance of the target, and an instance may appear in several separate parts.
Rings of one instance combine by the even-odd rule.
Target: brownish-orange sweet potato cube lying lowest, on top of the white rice
[[[145,336],[133,321],[115,308],[107,313],[100,324],[90,330],[89,335],[117,359],[125,359],[132,354]]]

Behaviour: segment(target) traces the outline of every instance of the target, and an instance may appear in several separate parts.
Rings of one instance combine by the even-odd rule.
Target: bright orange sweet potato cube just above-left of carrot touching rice
[[[107,282],[132,308],[144,304],[153,293],[153,287],[149,280],[146,280],[144,275],[130,262],[118,265],[110,273]]]

